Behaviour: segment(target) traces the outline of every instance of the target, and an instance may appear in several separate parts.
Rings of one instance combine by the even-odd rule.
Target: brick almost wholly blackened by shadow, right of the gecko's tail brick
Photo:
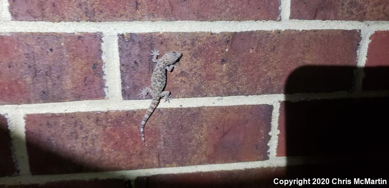
[[[388,151],[388,105],[389,97],[283,102],[277,156],[382,159]]]

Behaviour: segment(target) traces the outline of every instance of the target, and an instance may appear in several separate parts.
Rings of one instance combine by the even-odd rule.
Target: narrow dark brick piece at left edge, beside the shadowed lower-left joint
[[[0,115],[0,176],[10,176],[16,173],[15,162],[12,158],[8,120]]]

